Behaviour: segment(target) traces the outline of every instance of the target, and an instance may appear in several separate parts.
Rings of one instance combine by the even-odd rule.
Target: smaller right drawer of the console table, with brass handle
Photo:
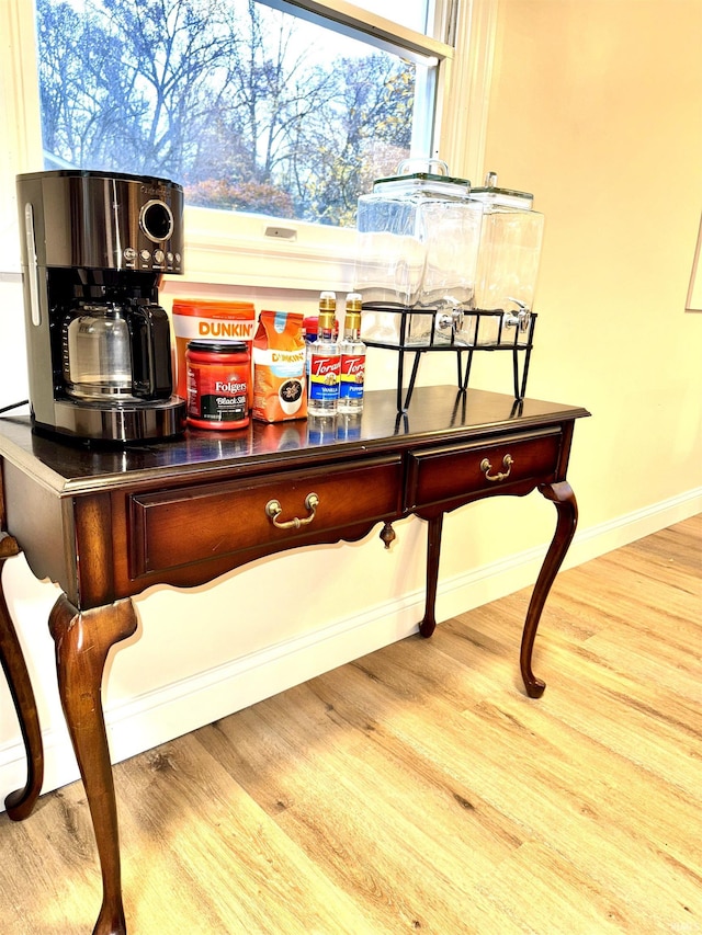
[[[409,455],[406,510],[492,493],[521,493],[555,478],[561,455],[559,427],[522,433],[486,445],[428,448]]]

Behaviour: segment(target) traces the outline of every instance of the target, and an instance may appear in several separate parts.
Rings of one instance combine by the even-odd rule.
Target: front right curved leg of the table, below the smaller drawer
[[[568,546],[575,535],[575,528],[578,522],[578,504],[575,499],[575,493],[570,484],[562,480],[557,483],[546,483],[539,488],[546,500],[552,500],[556,504],[558,518],[556,522],[556,532],[553,537],[548,551],[544,558],[544,563],[539,572],[536,584],[534,585],[533,594],[529,603],[526,612],[526,620],[524,622],[524,631],[522,635],[522,646],[520,652],[520,666],[524,687],[530,698],[541,698],[546,687],[546,683],[541,679],[536,679],[531,669],[531,655],[534,648],[534,639],[541,612],[544,608],[546,597],[551,591],[551,585],[554,582],[563,559],[568,551]]]

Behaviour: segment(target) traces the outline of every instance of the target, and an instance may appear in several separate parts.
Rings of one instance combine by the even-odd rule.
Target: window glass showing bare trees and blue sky
[[[287,9],[36,0],[46,168],[162,175],[189,204],[352,227],[374,178],[429,157],[439,59],[419,34],[378,47],[349,16]],[[423,30],[429,0],[407,12]]]

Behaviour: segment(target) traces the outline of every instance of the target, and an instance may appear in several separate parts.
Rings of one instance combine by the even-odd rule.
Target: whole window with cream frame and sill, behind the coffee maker
[[[182,181],[191,271],[252,282],[261,250],[304,253],[291,285],[312,282],[324,256],[348,254],[358,195],[401,158],[440,155],[466,174],[455,158],[465,106],[440,117],[471,96],[466,62],[489,33],[476,10],[495,2],[36,0],[35,24],[31,3],[9,0],[0,27],[18,41],[11,83],[26,115],[16,126],[7,111],[15,171],[79,164]],[[34,28],[39,56],[27,54]]]

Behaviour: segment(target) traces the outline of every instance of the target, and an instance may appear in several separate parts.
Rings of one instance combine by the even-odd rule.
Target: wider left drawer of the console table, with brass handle
[[[236,552],[335,541],[336,529],[397,516],[401,477],[401,457],[390,455],[358,466],[331,465],[264,480],[133,494],[127,521],[129,573],[138,578]],[[280,512],[269,506],[275,501]]]

